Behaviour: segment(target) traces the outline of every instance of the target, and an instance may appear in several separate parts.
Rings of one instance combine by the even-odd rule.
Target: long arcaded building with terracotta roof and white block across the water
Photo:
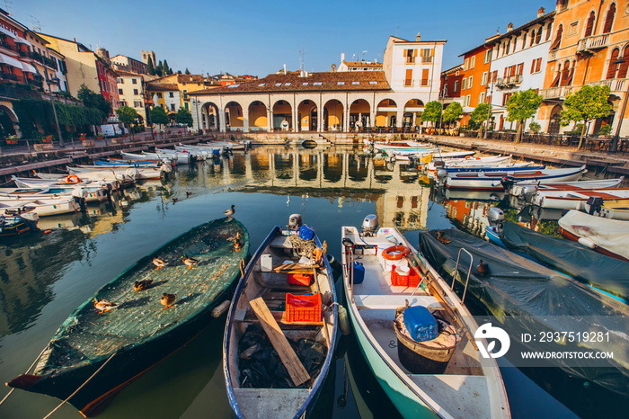
[[[286,70],[191,94],[202,103],[195,128],[226,130],[349,131],[359,127],[407,127],[425,103],[439,96],[445,40],[390,37],[382,63],[358,67],[341,57],[340,70]],[[367,68],[367,71],[364,70]],[[217,118],[210,116],[217,115]],[[199,123],[199,121],[201,123]]]

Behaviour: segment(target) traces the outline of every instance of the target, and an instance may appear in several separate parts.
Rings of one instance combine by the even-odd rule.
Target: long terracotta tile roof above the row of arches
[[[329,92],[348,90],[389,90],[384,71],[348,71],[335,73],[273,74],[247,83],[197,90],[198,94],[247,94],[271,92]]]

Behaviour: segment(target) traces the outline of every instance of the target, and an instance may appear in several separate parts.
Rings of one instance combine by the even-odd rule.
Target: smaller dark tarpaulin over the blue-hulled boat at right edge
[[[577,242],[546,236],[509,221],[502,243],[509,250],[527,254],[537,262],[570,275],[623,299],[629,295],[629,262],[599,254]]]

